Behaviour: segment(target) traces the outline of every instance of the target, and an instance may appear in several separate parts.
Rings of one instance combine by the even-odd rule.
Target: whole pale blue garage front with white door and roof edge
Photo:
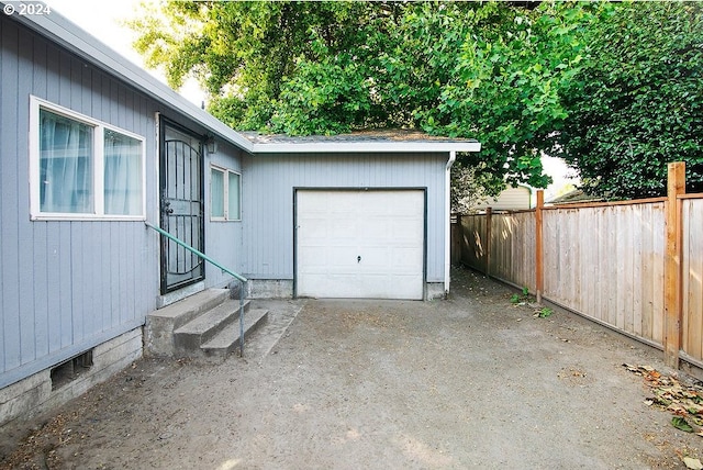
[[[246,135],[242,271],[253,296],[442,298],[449,171],[476,141]],[[261,188],[267,188],[263,197]]]

